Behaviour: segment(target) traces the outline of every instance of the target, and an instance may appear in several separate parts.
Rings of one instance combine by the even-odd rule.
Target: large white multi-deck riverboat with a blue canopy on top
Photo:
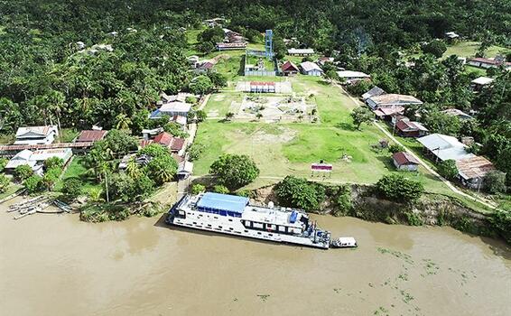
[[[271,204],[271,203],[270,203]],[[300,209],[249,205],[248,198],[212,192],[186,195],[165,220],[167,224],[328,249],[330,232]]]

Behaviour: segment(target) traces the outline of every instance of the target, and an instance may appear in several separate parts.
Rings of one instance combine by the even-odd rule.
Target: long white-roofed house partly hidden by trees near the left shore
[[[58,149],[42,149],[37,151],[30,151],[25,149],[19,153],[16,153],[11,160],[5,164],[5,172],[14,172],[16,167],[26,164],[30,166],[34,173],[42,175],[43,163],[52,158],[58,157],[62,159],[64,165],[70,162],[73,152],[70,148],[58,148]]]

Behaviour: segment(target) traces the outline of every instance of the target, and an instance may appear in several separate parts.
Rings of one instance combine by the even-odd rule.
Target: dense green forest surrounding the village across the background
[[[330,55],[353,70],[371,73],[387,92],[413,94],[443,124],[438,132],[471,135],[480,150],[511,173],[509,73],[496,71],[492,88],[474,96],[474,76],[456,58],[424,54],[405,67],[400,51],[456,31],[485,44],[511,45],[507,0],[272,1],[131,0],[0,2],[0,127],[59,124],[106,128],[145,114],[160,91],[189,88],[181,27],[203,19],[228,18],[241,33],[272,28],[277,38],[296,37],[302,46]],[[419,48],[420,50],[420,48]],[[362,90],[367,87],[358,87]],[[356,88],[355,88],[356,89]],[[358,92],[358,91],[355,91]],[[478,111],[460,125],[439,110]],[[413,110],[413,109],[412,109]],[[422,109],[424,111],[424,109]],[[423,113],[424,115],[424,113]],[[425,117],[424,119],[428,119]],[[508,182],[511,177],[507,177]],[[509,184],[509,183],[508,183]]]

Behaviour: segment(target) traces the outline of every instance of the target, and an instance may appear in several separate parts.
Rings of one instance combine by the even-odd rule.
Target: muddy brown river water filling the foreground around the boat
[[[0,315],[511,315],[511,249],[451,228],[314,216],[359,244],[317,250],[5,209]]]

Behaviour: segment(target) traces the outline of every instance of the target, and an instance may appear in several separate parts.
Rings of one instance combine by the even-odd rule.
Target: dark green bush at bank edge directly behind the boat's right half
[[[283,205],[298,209],[318,209],[325,199],[325,190],[321,185],[293,176],[287,176],[277,183],[275,193]]]

